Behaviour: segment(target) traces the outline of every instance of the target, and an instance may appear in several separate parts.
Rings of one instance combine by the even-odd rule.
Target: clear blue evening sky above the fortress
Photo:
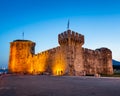
[[[36,42],[36,53],[58,46],[70,29],[85,36],[83,47],[107,47],[120,61],[120,0],[0,0],[0,67],[9,59],[9,42]]]

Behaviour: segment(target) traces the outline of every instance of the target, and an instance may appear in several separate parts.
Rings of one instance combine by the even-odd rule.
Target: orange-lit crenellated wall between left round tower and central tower
[[[27,60],[28,73],[63,75],[66,73],[67,63],[63,48],[56,47],[36,55],[29,56]]]

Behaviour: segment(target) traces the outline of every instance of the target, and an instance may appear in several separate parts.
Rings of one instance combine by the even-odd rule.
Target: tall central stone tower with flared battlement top
[[[74,31],[67,30],[59,34],[58,42],[67,55],[68,74],[80,75],[84,70],[82,45],[84,44],[84,36]],[[79,74],[78,74],[79,73]]]

